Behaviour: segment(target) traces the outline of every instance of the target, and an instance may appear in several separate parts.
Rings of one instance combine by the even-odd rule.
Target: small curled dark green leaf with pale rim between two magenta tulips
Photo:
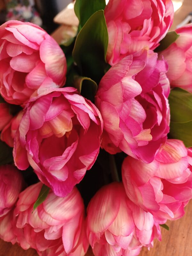
[[[74,82],[75,88],[86,99],[93,101],[97,92],[97,84],[88,77],[78,77]]]

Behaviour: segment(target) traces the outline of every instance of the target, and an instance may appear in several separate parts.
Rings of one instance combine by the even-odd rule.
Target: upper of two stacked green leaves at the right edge
[[[192,93],[174,88],[169,95],[171,122],[186,123],[192,120]]]

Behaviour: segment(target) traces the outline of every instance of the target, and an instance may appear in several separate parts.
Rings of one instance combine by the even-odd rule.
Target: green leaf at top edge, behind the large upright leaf
[[[99,10],[104,10],[105,6],[105,0],[76,0],[74,11],[79,19],[80,27],[82,28],[84,26],[93,13]]]

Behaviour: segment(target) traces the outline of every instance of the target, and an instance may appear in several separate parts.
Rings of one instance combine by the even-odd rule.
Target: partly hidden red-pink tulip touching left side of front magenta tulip
[[[23,110],[21,110],[16,116],[14,116],[1,132],[1,140],[6,142],[7,145],[12,148],[14,144],[15,133],[19,127],[22,116]]]

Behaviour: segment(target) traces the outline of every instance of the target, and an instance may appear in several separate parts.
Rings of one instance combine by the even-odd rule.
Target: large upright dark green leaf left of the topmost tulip
[[[104,11],[95,12],[79,32],[73,50],[73,59],[81,76],[90,77],[99,84],[107,66],[108,31]]]

